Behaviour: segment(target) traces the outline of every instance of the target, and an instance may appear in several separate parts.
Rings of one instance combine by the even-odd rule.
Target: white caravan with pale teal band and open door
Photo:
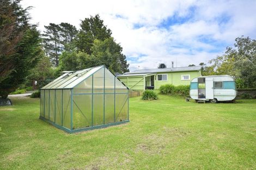
[[[190,97],[194,100],[230,101],[237,95],[235,80],[230,75],[196,77],[190,83]]]

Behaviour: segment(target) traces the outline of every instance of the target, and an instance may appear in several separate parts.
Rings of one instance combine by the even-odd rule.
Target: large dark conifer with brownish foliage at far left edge
[[[42,50],[36,26],[28,23],[29,8],[23,9],[20,1],[4,0],[0,4],[0,98],[7,98],[25,81]]]

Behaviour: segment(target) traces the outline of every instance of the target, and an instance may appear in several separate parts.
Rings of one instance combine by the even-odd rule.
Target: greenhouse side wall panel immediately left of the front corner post
[[[63,90],[63,127],[71,129],[71,90]]]

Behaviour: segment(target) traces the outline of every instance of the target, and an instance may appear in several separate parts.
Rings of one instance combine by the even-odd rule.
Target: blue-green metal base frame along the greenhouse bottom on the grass
[[[70,133],[70,134],[73,134],[73,133],[78,133],[78,132],[81,132],[81,131],[89,131],[89,130],[94,130],[94,129],[101,129],[101,128],[107,128],[107,127],[112,127],[114,125],[119,125],[119,124],[124,124],[124,123],[128,123],[130,122],[130,120],[125,120],[125,121],[121,121],[121,122],[114,122],[114,123],[107,123],[107,124],[101,124],[101,125],[95,125],[93,127],[87,127],[87,128],[80,128],[80,129],[73,129],[73,130],[70,130],[68,128],[65,128],[61,125],[58,125],[52,121],[49,121],[48,119],[40,116],[39,119],[41,119],[42,121],[45,121],[47,123],[50,123],[51,125],[53,125],[54,127],[60,129],[60,130],[64,130],[66,133]]]

